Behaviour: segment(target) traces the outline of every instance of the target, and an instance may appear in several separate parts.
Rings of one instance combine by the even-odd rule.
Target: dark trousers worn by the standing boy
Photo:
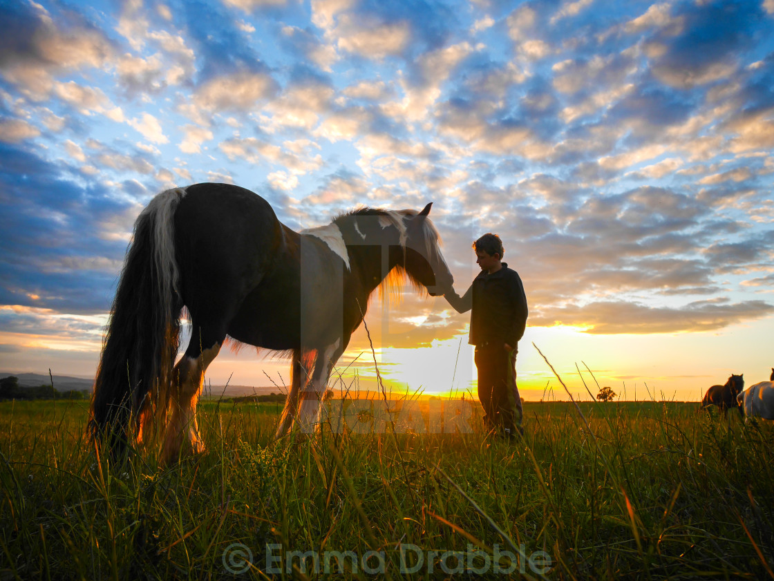
[[[508,429],[515,433],[522,425],[522,400],[516,387],[516,349],[509,353],[502,343],[478,345],[475,362],[478,400],[484,407],[486,429]]]

